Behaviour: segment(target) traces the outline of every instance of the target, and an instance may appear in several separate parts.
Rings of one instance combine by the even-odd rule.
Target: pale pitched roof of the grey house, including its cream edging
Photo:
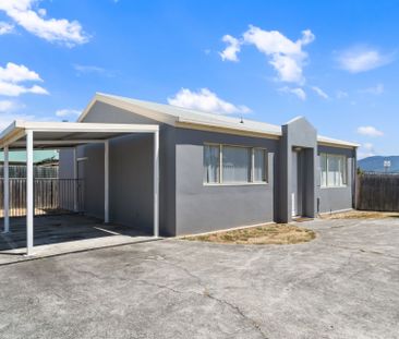
[[[97,101],[108,104],[178,128],[204,129],[216,132],[225,131],[233,134],[250,133],[274,138],[279,138],[282,135],[280,125],[249,120],[245,118],[241,119],[221,114],[206,113],[193,109],[143,101],[102,93],[97,93],[95,95],[90,104],[82,112],[77,120],[78,122],[84,121],[84,118]],[[355,143],[330,138],[322,135],[318,135],[317,141],[319,144],[327,146],[330,145],[350,148],[360,146]]]

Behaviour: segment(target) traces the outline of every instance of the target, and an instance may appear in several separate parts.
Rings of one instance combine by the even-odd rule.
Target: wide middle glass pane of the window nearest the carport
[[[251,181],[251,148],[222,147],[222,181]]]

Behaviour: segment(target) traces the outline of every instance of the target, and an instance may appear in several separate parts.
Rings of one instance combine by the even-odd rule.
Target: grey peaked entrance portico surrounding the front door
[[[303,147],[305,157],[305,204],[304,213],[307,217],[314,217],[316,211],[316,149],[317,131],[309,123],[305,118],[292,120],[282,125],[282,137],[280,143],[279,159],[279,184],[278,190],[278,215],[276,220],[279,222],[289,222],[292,219],[292,148]]]

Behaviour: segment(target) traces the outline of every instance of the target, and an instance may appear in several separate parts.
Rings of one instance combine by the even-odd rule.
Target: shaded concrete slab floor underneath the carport
[[[2,220],[0,229],[3,229]],[[11,232],[0,232],[0,265],[32,258],[150,240],[143,230],[82,216],[49,215],[35,218],[35,255],[26,257],[26,219],[12,218]]]

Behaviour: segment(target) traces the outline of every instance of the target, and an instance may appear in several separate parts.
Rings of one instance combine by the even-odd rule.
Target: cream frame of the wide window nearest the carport
[[[204,143],[204,146],[218,146],[219,147],[219,182],[205,182],[203,180],[203,184],[205,186],[241,186],[241,185],[266,185],[268,184],[269,171],[268,171],[268,153],[265,147],[252,147],[252,146],[243,146],[243,145],[233,145],[233,144],[218,144],[218,143]],[[247,182],[223,182],[223,147],[241,147],[247,148],[251,150],[251,181]],[[265,153],[265,181],[254,181],[254,168],[255,168],[255,149],[262,149]],[[205,147],[203,147],[203,153],[205,152]],[[204,159],[204,155],[203,155]],[[204,166],[204,164],[203,164]]]

